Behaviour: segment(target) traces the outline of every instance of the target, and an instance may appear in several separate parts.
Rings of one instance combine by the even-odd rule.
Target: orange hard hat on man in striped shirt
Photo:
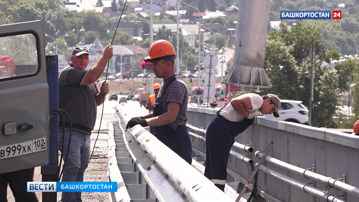
[[[152,43],[149,54],[145,57],[145,60],[161,58],[169,55],[176,55],[174,47],[171,42],[161,39]]]

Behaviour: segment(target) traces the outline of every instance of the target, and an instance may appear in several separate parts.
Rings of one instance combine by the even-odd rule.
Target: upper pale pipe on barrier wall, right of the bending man
[[[259,152],[259,151],[256,151],[255,155],[256,155],[256,157],[258,159],[260,159],[263,156],[263,153]],[[324,176],[324,175],[321,175],[321,174],[314,173],[312,171],[303,169],[301,167],[297,167],[297,166],[288,164],[286,162],[280,161],[280,160],[275,159],[275,158],[273,158],[271,156],[266,156],[265,160],[267,162],[270,162],[270,163],[276,165],[276,166],[279,166],[281,168],[284,168],[284,169],[287,169],[289,171],[292,171],[293,173],[297,173],[299,175],[304,175],[304,177],[306,177],[306,178],[316,180],[317,182],[322,182],[322,183],[324,183],[324,184],[326,184],[326,185],[328,185],[330,187],[340,189],[340,190],[342,190],[344,192],[347,192],[347,193],[350,193],[350,194],[352,194],[354,196],[359,197],[359,189],[358,188],[353,187],[353,186],[351,186],[349,184],[346,184],[344,182],[340,182],[340,181],[336,180],[335,178],[331,178],[331,177],[327,177],[327,176]]]

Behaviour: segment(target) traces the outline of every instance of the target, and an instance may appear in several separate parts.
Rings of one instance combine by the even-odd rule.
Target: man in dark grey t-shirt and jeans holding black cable
[[[98,90],[95,82],[103,73],[113,48],[107,45],[101,58],[90,69],[89,51],[78,46],[72,52],[71,63],[59,74],[59,109],[66,111],[71,119],[71,141],[62,182],[83,182],[90,154],[90,135],[95,126],[97,106],[109,92],[108,83],[103,82]],[[65,128],[65,135],[63,129]],[[59,150],[66,159],[70,137],[70,121],[59,121]],[[62,144],[64,147],[62,148]],[[62,192],[62,202],[81,202],[81,192]]]

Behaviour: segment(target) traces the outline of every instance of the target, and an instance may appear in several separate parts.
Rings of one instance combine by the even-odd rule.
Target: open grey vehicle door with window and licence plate
[[[48,164],[42,22],[0,26],[0,173]]]

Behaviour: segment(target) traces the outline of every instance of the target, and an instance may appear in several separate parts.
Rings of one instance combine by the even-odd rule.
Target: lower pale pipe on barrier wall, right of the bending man
[[[257,164],[256,164],[257,165]],[[336,198],[336,196],[334,195],[331,195],[331,194],[328,194],[328,193],[323,193],[322,190],[320,189],[317,189],[317,188],[314,188],[312,186],[309,186],[308,184],[305,184],[305,183],[302,183],[302,182],[299,182],[298,180],[295,180],[293,178],[290,178],[286,175],[283,175],[281,173],[278,173],[264,165],[261,165],[259,167],[259,170],[273,176],[274,178],[276,179],[279,179],[287,184],[290,184],[292,185],[293,187],[297,187],[299,189],[303,189],[304,192],[307,192],[309,194],[313,194],[315,196],[318,196],[318,197],[321,197],[321,198],[324,198],[326,199],[327,201],[330,201],[330,202],[345,202],[345,201],[342,201],[341,199],[339,198]]]

